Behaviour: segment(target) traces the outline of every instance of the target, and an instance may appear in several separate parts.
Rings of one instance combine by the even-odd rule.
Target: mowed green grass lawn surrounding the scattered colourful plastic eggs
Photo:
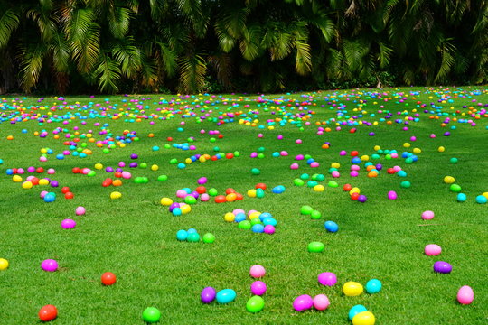
[[[478,90],[482,93],[477,95]],[[196,123],[194,117],[174,118],[166,121],[151,119],[131,123],[128,114],[134,112],[135,104],[128,106],[132,111],[120,116],[117,120],[95,118],[70,121],[69,125],[59,122],[39,125],[36,120],[10,124],[7,120],[0,125],[0,258],[6,258],[10,267],[0,272],[0,322],[2,324],[36,324],[40,320],[37,312],[45,304],[54,304],[58,308],[55,324],[142,324],[142,311],[154,306],[162,311],[162,324],[348,324],[348,311],[353,305],[363,304],[374,313],[378,324],[482,324],[488,317],[487,299],[487,257],[488,241],[486,237],[488,205],[477,204],[474,198],[488,191],[488,120],[481,117],[475,120],[476,126],[453,122],[441,126],[446,116],[431,119],[436,114],[423,113],[424,109],[436,111],[430,107],[434,103],[441,112],[455,113],[455,110],[468,113],[470,106],[477,108],[477,103],[488,103],[486,88],[401,88],[384,89],[390,97],[388,102],[367,98],[368,91],[348,90],[311,93],[313,106],[305,107],[314,110],[301,131],[296,125],[288,123],[277,125],[274,130],[259,129],[258,126],[246,126],[237,123],[216,125],[208,118]],[[419,91],[419,95],[408,95],[410,91]],[[345,96],[347,94],[356,94]],[[407,99],[400,102],[404,93]],[[452,97],[452,102],[437,100],[442,94]],[[293,98],[298,102],[305,99],[303,94],[281,95],[282,98]],[[464,95],[465,98],[461,98]],[[159,95],[131,96],[126,98],[151,98],[141,101],[145,114],[158,112],[157,107],[169,107],[158,104]],[[176,96],[162,96],[166,100]],[[221,96],[197,96],[187,98],[182,105],[173,107],[195,107],[207,105],[205,112],[195,109],[200,116],[210,113],[211,117],[220,116],[220,112],[242,110],[259,111],[258,125],[267,125],[266,121],[280,115],[277,107],[286,111],[299,111],[286,107],[288,104],[256,102],[257,96],[236,95],[225,98],[239,99],[239,107],[231,107],[230,100]],[[264,98],[279,98],[280,95],[267,95]],[[325,98],[327,97],[327,98]],[[12,99],[6,98],[8,104]],[[19,97],[17,97],[19,98]],[[22,97],[21,97],[22,98]],[[202,99],[199,99],[202,98]],[[39,105],[38,98],[23,99],[23,106]],[[109,99],[109,104],[105,99]],[[81,105],[93,102],[100,107],[118,104],[122,107],[124,97],[65,98],[70,105],[79,101]],[[205,104],[211,100],[215,105]],[[379,121],[389,110],[393,113],[391,125],[379,122],[378,125],[357,125],[357,132],[350,133],[352,126],[342,126],[342,131],[335,131],[335,124],[329,125],[332,132],[316,135],[316,121],[327,121],[336,117],[340,103],[347,105],[346,116],[357,116],[353,112],[360,100],[367,100],[362,109],[368,113],[360,120]],[[472,100],[475,99],[474,103]],[[226,103],[224,103],[224,101]],[[426,108],[417,107],[417,102],[427,104]],[[375,104],[375,102],[377,104]],[[17,102],[18,103],[18,102]],[[59,100],[46,98],[43,105],[52,107]],[[127,101],[128,104],[128,101]],[[249,107],[244,107],[249,105]],[[324,105],[324,107],[321,107]],[[384,108],[380,108],[383,105]],[[467,106],[463,108],[463,106]],[[451,109],[450,107],[454,107]],[[395,119],[414,116],[417,108],[419,121],[410,121],[408,131],[402,131],[406,125],[397,124]],[[2,108],[0,108],[2,109]],[[99,107],[93,106],[94,110]],[[27,109],[28,110],[28,109]],[[378,111],[382,110],[383,113]],[[7,109],[0,111],[8,114]],[[66,110],[41,109],[40,114],[63,115]],[[77,108],[70,110],[73,114]],[[112,113],[115,111],[108,110]],[[125,111],[124,111],[125,112]],[[272,115],[275,112],[275,115]],[[407,112],[407,115],[397,115]],[[375,116],[370,116],[375,114]],[[81,116],[88,116],[86,110],[80,110]],[[252,118],[254,119],[254,117]],[[345,120],[345,118],[343,118]],[[85,121],[86,125],[81,122]],[[185,125],[181,125],[185,122]],[[125,148],[116,148],[111,153],[101,152],[95,144],[88,144],[93,154],[86,158],[68,156],[57,160],[55,155],[67,149],[62,142],[61,134],[55,140],[52,130],[56,127],[67,128],[73,133],[73,127],[80,127],[80,134],[93,130],[97,140],[100,127],[95,123],[108,123],[110,132],[122,135],[124,130],[136,131],[139,141],[127,144]],[[452,130],[451,126],[456,129]],[[184,131],[177,129],[183,127]],[[27,133],[23,134],[22,130]],[[35,131],[43,129],[49,132],[46,138],[34,136]],[[202,135],[200,130],[219,130],[224,137],[211,143],[208,133]],[[450,136],[443,136],[450,131]],[[374,132],[374,136],[369,136]],[[148,134],[154,133],[150,138]],[[262,138],[258,138],[262,134]],[[430,138],[436,134],[436,138]],[[7,135],[14,135],[14,140],[6,140]],[[283,135],[283,140],[277,140]],[[417,141],[410,141],[411,136]],[[164,144],[171,144],[166,137],[172,136],[174,143],[182,144],[193,136],[196,151],[165,149]],[[296,144],[302,139],[302,144]],[[80,141],[80,144],[84,140]],[[324,142],[331,144],[329,149],[322,149]],[[410,148],[404,148],[404,143]],[[159,151],[153,151],[153,146]],[[341,150],[348,153],[356,150],[360,155],[375,153],[374,145],[381,149],[411,152],[414,147],[422,150],[418,153],[418,162],[407,164],[404,159],[386,160],[384,155],[373,163],[382,163],[383,170],[377,178],[368,178],[362,169],[360,176],[349,175],[351,156],[339,155]],[[446,151],[439,153],[437,148],[445,146]],[[195,153],[214,154],[213,148],[219,146],[221,153],[239,151],[241,155],[233,159],[220,159],[206,163],[192,163],[180,170],[169,161],[177,158],[183,162]],[[250,158],[249,154],[265,148],[264,159]],[[40,163],[42,148],[51,148],[54,154],[49,155],[46,163]],[[286,150],[287,157],[272,157],[272,153]],[[101,182],[111,174],[97,171],[96,176],[88,177],[73,174],[73,167],[89,167],[94,170],[95,163],[104,167],[117,167],[117,163],[129,163],[131,153],[137,153],[138,163],[157,164],[159,171],[149,168],[130,169],[133,179],[136,176],[149,178],[147,184],[136,184],[133,180],[124,181],[122,187],[103,188]],[[311,168],[304,161],[296,171],[289,166],[294,163],[296,154],[310,154],[321,165]],[[458,163],[449,163],[451,157],[458,158]],[[341,163],[341,177],[335,179],[339,188],[327,187],[333,180],[329,173],[331,163]],[[361,166],[363,163],[361,164]],[[401,166],[407,173],[406,178],[390,175],[388,167]],[[32,190],[23,190],[21,183],[12,181],[6,175],[7,168],[26,169],[28,166],[54,168],[52,176],[60,182],[60,187],[37,186]],[[259,175],[253,175],[252,168],[260,169]],[[295,187],[293,180],[302,173],[310,175],[323,173],[326,178],[321,182],[324,192],[314,192],[305,187]],[[157,176],[165,174],[167,181],[157,181]],[[443,182],[446,175],[455,177],[455,182],[463,188],[468,200],[456,202],[456,194]],[[24,174],[23,177],[27,176]],[[205,176],[209,179],[207,189],[215,188],[224,193],[233,188],[244,194],[244,200],[216,204],[199,202],[192,206],[192,211],[180,217],[174,217],[163,207],[159,200],[170,197],[175,200],[176,190],[197,186],[197,179]],[[408,180],[412,186],[402,189],[401,181]],[[249,198],[247,190],[254,188],[258,182],[267,184],[266,196],[263,199]],[[368,201],[361,204],[350,200],[347,192],[342,190],[344,184],[350,183],[361,189]],[[271,189],[284,185],[283,194],[273,194]],[[61,187],[69,186],[75,198],[65,200]],[[39,198],[42,190],[53,190],[58,194],[55,202],[45,203]],[[118,190],[123,196],[119,200],[110,200],[110,192]],[[397,191],[398,200],[388,200],[389,190]],[[310,205],[322,212],[322,219],[313,220],[300,215],[302,205]],[[75,216],[75,209],[83,206],[87,214]],[[233,209],[257,209],[269,212],[277,219],[277,232],[269,236],[254,234],[250,230],[241,230],[235,223],[223,220],[226,212]],[[425,210],[433,210],[436,218],[424,221],[420,218]],[[74,229],[62,229],[61,220],[73,218],[77,222]],[[324,221],[333,220],[339,225],[335,234],[324,230]],[[187,243],[176,240],[179,229],[196,228],[200,235],[211,232],[216,241],[213,244]],[[321,254],[307,252],[306,246],[311,241],[321,241],[325,250]],[[443,252],[439,256],[424,255],[424,246],[437,244]],[[55,273],[42,271],[42,260],[53,258],[60,265]],[[436,274],[433,265],[436,261],[446,261],[453,265],[451,274]],[[267,269],[262,279],[267,283],[264,296],[265,309],[257,314],[246,311],[246,302],[251,297],[249,276],[251,265],[263,265]],[[104,287],[100,276],[104,272],[117,275],[115,285]],[[317,282],[317,275],[322,272],[337,274],[338,283],[333,287],[324,287]],[[363,293],[358,297],[343,295],[343,283],[356,281],[363,285],[376,278],[383,284],[377,294]],[[456,302],[457,290],[463,285],[474,289],[474,302],[463,306]],[[203,287],[212,286],[218,291],[230,288],[237,292],[237,299],[228,305],[216,302],[210,305],[200,302]],[[331,305],[326,311],[294,311],[292,303],[301,294],[326,294]]]

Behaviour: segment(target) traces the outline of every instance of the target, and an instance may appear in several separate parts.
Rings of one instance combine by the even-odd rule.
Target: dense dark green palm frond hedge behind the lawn
[[[487,8],[485,0],[2,1],[0,92],[485,83]]]

